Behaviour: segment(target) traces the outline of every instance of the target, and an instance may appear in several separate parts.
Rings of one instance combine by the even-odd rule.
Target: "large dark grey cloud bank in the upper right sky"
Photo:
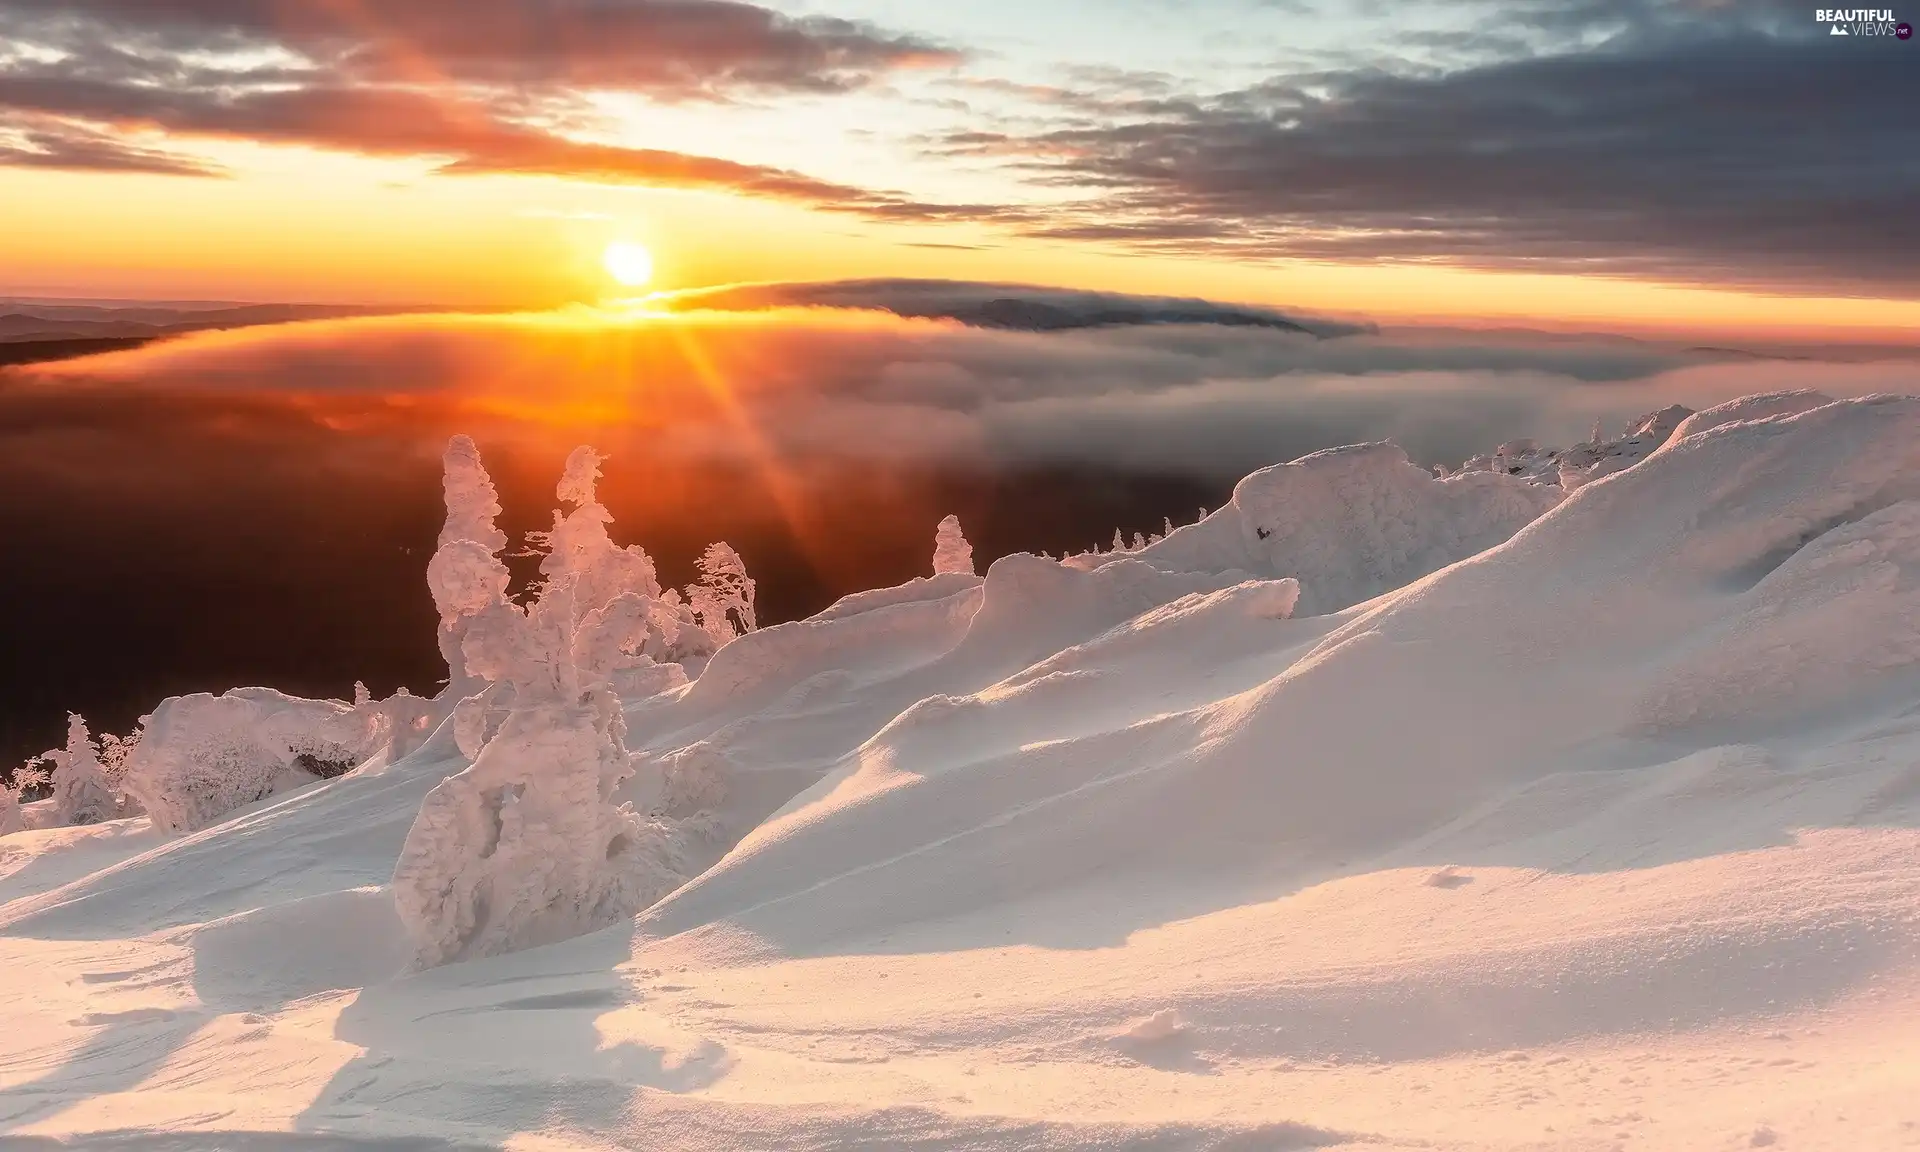
[[[1920,67],[1780,6],[1501,8],[1563,48],[1288,75],[948,148],[1087,200],[1027,230],[1171,252],[1920,292]],[[1597,42],[1596,42],[1597,38]],[[1513,50],[1513,44],[1507,44]]]

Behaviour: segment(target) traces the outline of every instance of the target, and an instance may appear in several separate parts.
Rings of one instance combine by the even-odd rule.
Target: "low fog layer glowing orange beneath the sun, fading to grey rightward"
[[[0,426],[15,434],[179,397],[196,411],[282,405],[315,428],[357,436],[591,434],[657,461],[776,470],[877,461],[1233,478],[1380,438],[1427,463],[1457,463],[1517,436],[1572,442],[1594,419],[1619,422],[1672,401],[1912,388],[1914,369],[1607,338],[1315,338],[1223,324],[1012,332],[776,307],[282,324],[15,378],[0,394]]]

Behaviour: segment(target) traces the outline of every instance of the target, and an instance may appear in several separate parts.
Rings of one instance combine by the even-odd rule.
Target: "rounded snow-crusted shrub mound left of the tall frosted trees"
[[[253,801],[351,770],[390,735],[376,705],[307,701],[269,687],[169,697],[144,722],[127,791],[154,828],[184,833]]]

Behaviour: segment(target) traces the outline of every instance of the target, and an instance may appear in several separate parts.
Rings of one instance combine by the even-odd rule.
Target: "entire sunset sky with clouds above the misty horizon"
[[[1895,12],[1897,19],[1912,13]],[[1920,44],[1772,0],[0,0],[0,294],[933,276],[1920,338]]]

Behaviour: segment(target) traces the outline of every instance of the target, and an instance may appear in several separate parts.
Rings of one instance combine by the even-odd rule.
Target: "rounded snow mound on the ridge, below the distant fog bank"
[[[1325,614],[1494,547],[1559,499],[1503,472],[1436,478],[1398,445],[1363,444],[1261,468],[1227,507],[1129,555],[1167,570],[1290,576],[1298,611]]]

